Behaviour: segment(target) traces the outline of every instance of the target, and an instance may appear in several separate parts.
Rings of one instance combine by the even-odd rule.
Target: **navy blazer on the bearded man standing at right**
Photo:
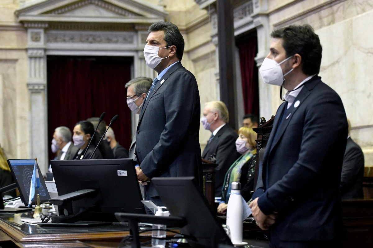
[[[341,98],[314,76],[283,115],[286,106],[277,110],[253,198],[261,193],[258,206],[264,214],[278,212],[270,233],[283,241],[338,238],[348,133]]]

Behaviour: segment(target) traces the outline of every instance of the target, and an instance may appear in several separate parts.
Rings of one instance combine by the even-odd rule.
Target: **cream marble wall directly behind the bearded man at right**
[[[273,28],[310,24],[323,46],[322,80],[343,101],[351,137],[373,166],[373,2],[369,0],[269,1]],[[274,93],[273,97],[275,97]]]

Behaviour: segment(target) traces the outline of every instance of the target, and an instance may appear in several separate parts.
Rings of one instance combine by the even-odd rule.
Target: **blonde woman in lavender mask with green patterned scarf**
[[[222,187],[222,201],[217,207],[217,213],[221,215],[225,215],[227,212],[232,182],[241,183],[241,195],[246,202],[251,198],[251,191],[253,191],[254,187],[256,138],[257,133],[252,128],[244,126],[238,129],[236,149],[242,155],[229,167],[229,170],[225,174]]]

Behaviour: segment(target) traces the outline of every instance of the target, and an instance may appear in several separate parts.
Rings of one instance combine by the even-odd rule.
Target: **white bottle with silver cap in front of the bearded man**
[[[227,207],[227,226],[229,226],[229,230],[231,231],[233,245],[242,244],[242,215],[241,183],[233,182]]]

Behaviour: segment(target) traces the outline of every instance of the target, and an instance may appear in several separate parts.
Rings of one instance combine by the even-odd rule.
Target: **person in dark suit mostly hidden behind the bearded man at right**
[[[341,197],[342,199],[362,199],[364,198],[364,154],[360,146],[351,139],[351,123],[348,119],[347,122],[348,138],[342,165]]]

